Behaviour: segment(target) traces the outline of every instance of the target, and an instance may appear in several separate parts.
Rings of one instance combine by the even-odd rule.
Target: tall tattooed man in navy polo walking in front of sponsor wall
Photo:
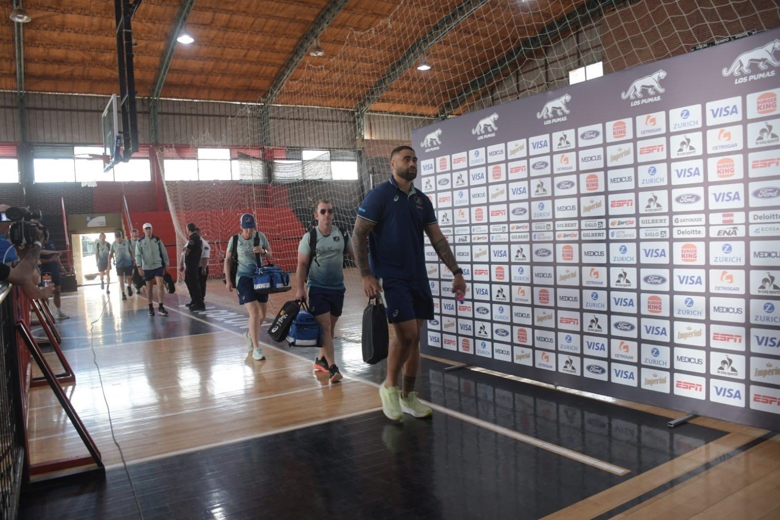
[[[434,317],[431,285],[425,269],[423,232],[431,240],[441,262],[452,271],[452,293],[463,297],[466,282],[447,239],[441,233],[433,205],[417,191],[414,149],[399,146],[390,155],[392,177],[375,187],[357,210],[353,244],[355,262],[368,297],[385,300],[388,321],[395,340],[388,351],[388,375],[379,386],[382,411],[399,420],[402,413],[414,417],[431,415],[420,403],[414,384],[420,367],[420,327]],[[399,389],[399,370],[403,387]]]

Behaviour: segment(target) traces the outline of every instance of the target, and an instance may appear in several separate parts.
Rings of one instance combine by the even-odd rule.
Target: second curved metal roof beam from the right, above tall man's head
[[[413,66],[414,62],[417,62],[417,59],[431,48],[431,45],[434,45],[437,41],[441,40],[441,38],[445,37],[445,34],[449,33],[450,30],[454,29],[459,23],[470,16],[471,13],[480,9],[480,7],[486,3],[488,3],[488,0],[466,0],[466,2],[463,2],[455,9],[452,9],[452,12],[439,20],[434,27],[431,27],[431,30],[429,30],[424,37],[414,42],[413,45],[392,64],[385,75],[379,78],[366,96],[355,106],[355,112],[367,112],[368,109],[371,108],[371,105],[374,105],[374,103],[381,98],[381,95],[385,94],[385,91],[387,91],[390,85],[395,83],[395,80],[401,77],[402,73],[406,72],[406,69]]]

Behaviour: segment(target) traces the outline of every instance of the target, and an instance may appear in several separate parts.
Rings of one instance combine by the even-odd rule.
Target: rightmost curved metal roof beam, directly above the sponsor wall
[[[574,29],[580,26],[584,21],[591,20],[594,16],[600,16],[608,8],[618,8],[622,4],[635,3],[640,0],[588,0],[588,2],[580,5],[579,8],[574,9],[569,14],[561,16],[558,20],[548,24],[539,33],[523,41],[520,45],[507,52],[501,58],[499,58],[488,70],[482,73],[479,77],[471,80],[470,84],[466,86],[463,91],[457,94],[454,98],[450,98],[448,102],[445,102],[442,109],[436,116],[437,119],[446,119],[452,115],[456,109],[458,109],[463,103],[466,102],[473,94],[476,94],[485,87],[488,87],[498,75],[508,66],[511,66],[519,59],[530,55],[531,52],[541,48],[544,43],[553,40],[566,30]]]

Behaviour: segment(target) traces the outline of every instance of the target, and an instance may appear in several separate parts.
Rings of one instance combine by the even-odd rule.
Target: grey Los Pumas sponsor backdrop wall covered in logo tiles
[[[413,132],[423,351],[780,425],[780,30]]]

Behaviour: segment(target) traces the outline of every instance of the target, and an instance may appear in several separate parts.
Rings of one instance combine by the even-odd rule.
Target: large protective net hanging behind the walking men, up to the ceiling
[[[365,20],[374,23],[362,29]],[[168,180],[166,169],[179,241],[187,222],[200,223],[215,262],[251,212],[292,270],[314,201],[330,199],[351,230],[367,189],[388,175],[388,152],[413,128],[560,87],[594,62],[610,73],[778,24],[775,0],[349,2],[320,35],[325,55],[306,56],[274,105],[258,99],[224,135],[193,140],[231,148],[226,180]],[[431,69],[417,69],[423,57]],[[351,169],[356,180],[334,180]]]

